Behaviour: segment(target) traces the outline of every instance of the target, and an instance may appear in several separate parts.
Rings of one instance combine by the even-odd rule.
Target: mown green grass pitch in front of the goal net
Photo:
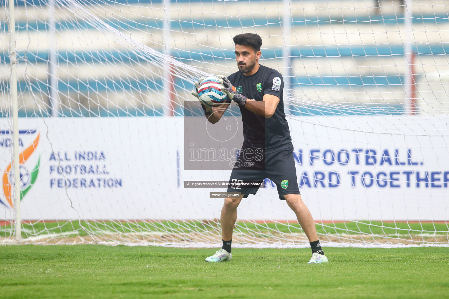
[[[449,248],[0,246],[0,298],[449,298]]]

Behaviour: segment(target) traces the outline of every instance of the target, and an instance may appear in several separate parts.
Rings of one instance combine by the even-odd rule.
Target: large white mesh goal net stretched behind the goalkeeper
[[[251,32],[260,63],[284,78],[298,184],[321,244],[448,246],[445,1],[18,0],[14,26],[6,4],[1,243],[16,242],[20,197],[22,243],[218,247],[223,199],[211,192],[226,189],[204,183],[230,170],[191,167],[190,138],[206,121],[190,91],[199,77],[237,71],[232,37]],[[268,179],[240,204],[233,240],[308,246]]]

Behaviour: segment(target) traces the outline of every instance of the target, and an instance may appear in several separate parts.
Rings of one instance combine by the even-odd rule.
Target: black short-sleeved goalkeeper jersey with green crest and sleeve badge
[[[247,99],[262,101],[264,95],[275,95],[280,99],[270,118],[240,107],[244,136],[242,149],[265,148],[265,153],[272,153],[292,147],[290,128],[284,113],[284,80],[281,73],[260,65],[259,70],[251,76],[236,72],[229,75],[228,79],[237,92]]]

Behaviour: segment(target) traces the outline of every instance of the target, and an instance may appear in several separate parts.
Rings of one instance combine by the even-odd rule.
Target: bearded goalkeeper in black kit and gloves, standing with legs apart
[[[223,247],[214,255],[207,257],[206,261],[231,260],[232,234],[237,220],[237,207],[242,198],[247,198],[249,194],[256,194],[259,188],[259,186],[240,188],[238,182],[263,181],[269,178],[276,183],[279,198],[286,200],[307,235],[312,247],[312,258],[308,263],[327,263],[312,215],[299,193],[293,144],[284,113],[282,75],[275,69],[259,64],[262,46],[259,35],[239,34],[233,37],[233,41],[238,72],[229,75],[228,78],[218,77],[225,87],[229,100],[234,101],[242,113],[244,135],[242,152],[248,149],[251,150],[250,152],[263,149],[264,159],[256,162],[251,169],[245,169],[241,166],[244,165],[242,163],[237,163],[236,165],[240,166],[233,168],[229,178],[228,192],[240,191],[241,195],[225,198],[225,204],[221,209]],[[192,94],[198,97],[198,82],[195,86],[197,91],[192,91]],[[203,109],[207,120],[216,123],[228,107],[229,103],[225,103],[211,109],[203,106]],[[243,156],[247,155],[241,154],[238,159],[242,160]]]

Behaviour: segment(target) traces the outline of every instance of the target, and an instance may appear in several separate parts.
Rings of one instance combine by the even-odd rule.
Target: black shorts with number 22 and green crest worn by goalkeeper
[[[276,184],[279,199],[285,200],[285,194],[301,194],[296,178],[293,147],[265,154],[264,164],[260,167],[261,169],[234,168],[229,178],[228,192],[240,192],[243,194],[243,198],[247,198],[250,194],[256,194],[259,186],[240,187],[239,190],[237,182],[263,181],[265,178],[269,178]]]

